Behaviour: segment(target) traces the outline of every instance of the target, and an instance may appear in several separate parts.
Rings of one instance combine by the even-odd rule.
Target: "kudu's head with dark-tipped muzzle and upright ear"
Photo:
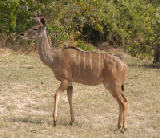
[[[20,37],[22,37],[23,39],[35,39],[42,37],[44,30],[46,28],[45,19],[44,17],[36,17],[34,19],[36,20],[37,25],[21,33]]]

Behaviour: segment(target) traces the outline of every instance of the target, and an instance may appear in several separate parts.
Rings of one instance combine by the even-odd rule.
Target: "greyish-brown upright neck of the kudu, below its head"
[[[55,52],[48,42],[48,36],[45,29],[44,32],[42,33],[42,36],[37,38],[37,41],[38,41],[38,53],[41,61],[45,65],[51,67],[53,64],[53,58],[55,56]]]

